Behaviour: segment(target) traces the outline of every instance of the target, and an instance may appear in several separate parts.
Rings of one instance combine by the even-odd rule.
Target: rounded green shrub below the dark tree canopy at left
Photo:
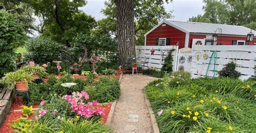
[[[57,61],[59,59],[58,55],[62,53],[62,50],[65,50],[64,45],[48,38],[31,39],[25,47],[28,51],[24,55],[26,61],[35,61],[37,64]]]

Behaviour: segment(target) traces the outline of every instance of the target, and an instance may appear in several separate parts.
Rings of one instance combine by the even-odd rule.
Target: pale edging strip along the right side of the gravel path
[[[147,109],[149,110],[149,113],[150,113],[150,119],[151,119],[153,132],[154,133],[159,133],[160,131],[159,131],[159,128],[158,128],[157,120],[156,120],[156,117],[154,116],[154,112],[153,112],[153,110],[150,106],[150,101],[149,101],[149,99],[147,99],[146,95],[145,95],[144,98],[145,98],[145,101],[146,101]]]

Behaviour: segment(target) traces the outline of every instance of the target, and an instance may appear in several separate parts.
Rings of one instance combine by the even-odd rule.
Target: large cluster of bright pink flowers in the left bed
[[[72,95],[64,95],[64,99],[71,104],[72,112],[76,112],[82,117],[90,118],[93,115],[103,114],[103,108],[96,106],[98,101],[84,103],[89,99],[89,95],[84,91],[73,92]]]

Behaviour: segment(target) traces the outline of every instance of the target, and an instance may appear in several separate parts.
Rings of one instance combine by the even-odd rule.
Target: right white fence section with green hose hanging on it
[[[212,58],[211,63],[209,63],[213,51],[217,51],[214,77],[218,77],[217,71],[223,69],[225,64],[232,60],[235,60],[237,63],[235,70],[241,72],[240,79],[244,80],[255,76],[256,46],[194,46],[191,64],[193,78],[206,76],[209,64],[207,76],[213,77],[214,58]],[[208,57],[205,58],[206,56],[204,55]]]

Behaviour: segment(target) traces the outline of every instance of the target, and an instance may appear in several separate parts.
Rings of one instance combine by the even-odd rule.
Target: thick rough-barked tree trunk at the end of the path
[[[119,64],[127,62],[127,57],[135,56],[134,0],[116,0],[117,42]]]

